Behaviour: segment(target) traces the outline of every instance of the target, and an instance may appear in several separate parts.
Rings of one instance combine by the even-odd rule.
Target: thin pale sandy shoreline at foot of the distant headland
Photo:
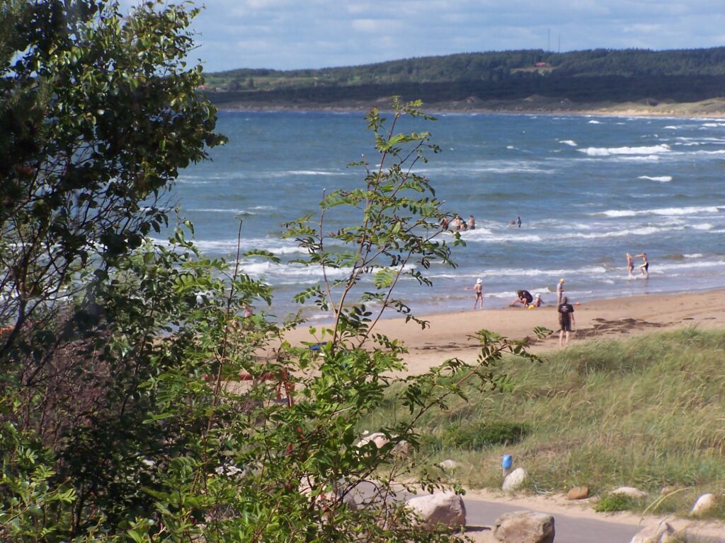
[[[213,102],[213,97],[210,96]],[[374,101],[318,104],[311,102],[233,102],[218,104],[220,111],[368,111],[373,106],[386,109],[389,98]],[[521,115],[571,115],[595,117],[660,117],[675,119],[724,119],[725,98],[711,98],[699,102],[626,102],[622,104],[575,104],[552,98],[532,96],[516,101],[466,101],[423,104],[421,108],[430,114],[521,114]]]

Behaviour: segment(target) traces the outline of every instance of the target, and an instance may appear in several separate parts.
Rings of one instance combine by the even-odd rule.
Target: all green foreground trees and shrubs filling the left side
[[[0,539],[450,541],[390,502],[402,480],[447,487],[411,479],[417,457],[396,448],[418,449],[418,421],[465,384],[505,386],[504,353],[537,358],[481,334],[474,364],[388,377],[405,346],[376,321],[395,311],[426,326],[397,281],[430,285],[431,265],[454,265],[437,239],[446,213],[415,173],[438,149],[399,132],[431,117],[397,99],[389,119],[370,111],[374,169],[351,165],[358,188],[287,225],[300,264],[345,271],[299,294],[334,324],[312,331],[319,350],[293,347],[283,335],[299,321],[268,320],[270,287],[239,271],[275,256],[211,260],[188,222],[162,230],[179,169],[224,141],[184,61],[195,14],[162,1],[128,17],[92,0],[0,7]],[[328,232],[334,214],[347,226]],[[166,243],[149,237],[162,231]],[[410,417],[378,426],[388,444],[358,445],[392,385]],[[368,507],[351,501],[362,481]]]

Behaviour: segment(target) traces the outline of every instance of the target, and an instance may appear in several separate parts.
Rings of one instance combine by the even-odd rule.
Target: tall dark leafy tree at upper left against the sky
[[[60,0],[8,4],[0,56],[0,323],[7,350],[92,263],[115,259],[167,222],[178,169],[220,143],[215,109],[186,69],[196,10]],[[43,319],[36,315],[34,319]]]

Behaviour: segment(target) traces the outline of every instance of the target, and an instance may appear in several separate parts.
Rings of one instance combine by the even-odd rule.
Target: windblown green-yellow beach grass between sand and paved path
[[[700,494],[723,492],[725,332],[592,340],[542,358],[503,361],[513,391],[467,390],[467,403],[424,418],[418,455],[455,460],[450,478],[467,487],[500,488],[506,453],[526,468],[533,492],[587,485],[603,497],[637,487],[648,497],[631,508],[653,513],[684,515]],[[369,422],[402,417],[389,402]],[[479,439],[491,429],[511,432]],[[664,487],[671,495],[660,500]]]

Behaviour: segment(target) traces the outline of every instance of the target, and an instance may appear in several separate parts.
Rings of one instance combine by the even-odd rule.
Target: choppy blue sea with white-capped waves
[[[473,292],[465,287],[479,277],[486,308],[507,305],[522,288],[555,303],[560,277],[570,301],[580,302],[725,287],[724,121],[437,117],[411,126],[430,131],[442,148],[418,171],[445,209],[472,214],[477,228],[463,232],[467,245],[454,251],[456,269],[428,270],[433,287],[399,283],[399,297],[415,313],[471,308]],[[281,223],[316,216],[323,190],[360,186],[363,172],[347,164],[376,154],[364,116],[222,111],[218,131],[228,145],[181,173],[173,202],[194,222],[196,242],[210,256],[233,254],[241,217],[242,249],[283,259],[241,265],[273,285],[268,311],[283,316],[304,308],[292,297],[321,273],[288,264],[302,253],[281,239]],[[521,228],[509,224],[516,216]],[[625,253],[642,251],[650,277],[629,279]]]

